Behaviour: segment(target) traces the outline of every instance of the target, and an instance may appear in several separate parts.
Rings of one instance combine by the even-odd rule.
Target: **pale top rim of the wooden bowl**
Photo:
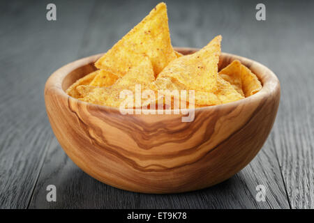
[[[174,49],[177,50],[178,52],[196,52],[196,51],[200,50],[199,48],[193,48],[193,47],[174,47]],[[85,104],[85,105],[89,105],[89,107],[94,107],[95,109],[100,109],[100,110],[101,109],[110,109],[112,111],[119,112],[118,107],[110,107],[107,105],[97,105],[97,104],[93,104],[90,102],[84,102],[82,100],[78,100],[77,98],[71,97],[70,95],[68,95],[66,93],[66,91],[63,90],[63,81],[67,77],[67,75],[70,74],[70,72],[73,72],[77,68],[80,68],[82,66],[87,66],[90,63],[95,62],[102,55],[103,55],[103,53],[102,54],[94,54],[92,56],[87,56],[87,57],[84,57],[82,59],[78,59],[76,61],[67,63],[66,65],[64,65],[61,68],[54,71],[52,73],[52,75],[50,75],[50,77],[47,79],[47,82],[45,84],[45,94],[47,93],[47,89],[50,89],[50,87],[53,87],[54,90],[57,90],[57,91],[54,91],[54,93],[58,93],[61,97],[63,97],[66,100],[74,100],[79,105]],[[258,79],[262,83],[262,89],[260,91],[258,91],[257,93],[255,93],[254,95],[248,96],[247,98],[243,98],[241,100],[237,100],[234,102],[228,102],[228,103],[221,104],[221,105],[210,105],[210,106],[205,106],[205,107],[195,107],[195,108],[191,108],[191,109],[186,109],[189,112],[191,110],[194,110],[196,112],[196,111],[202,111],[202,110],[207,110],[207,109],[223,109],[223,108],[228,108],[228,107],[237,107],[238,105],[241,105],[243,103],[260,101],[263,98],[267,98],[268,96],[270,96],[272,93],[274,93],[276,91],[278,91],[278,93],[280,93],[281,85],[280,85],[280,82],[278,80],[278,77],[274,74],[273,71],[271,71],[266,66],[262,65],[262,63],[258,63],[257,61],[253,61],[253,60],[248,59],[244,56],[238,56],[236,54],[229,54],[229,53],[225,53],[225,52],[221,52],[220,56],[227,56],[227,57],[232,58],[230,63],[232,61],[234,61],[235,59],[241,61],[241,63],[244,63],[244,64],[245,63],[251,63],[252,65],[248,66],[248,68],[250,68],[250,70],[251,70],[252,66],[257,66],[257,67],[263,68],[264,69],[263,74],[255,73],[255,75],[257,75]],[[261,75],[263,77],[261,77]],[[269,79],[267,79],[266,82],[264,82],[262,79],[264,79],[266,77],[269,77]],[[174,111],[177,111],[177,110],[178,109],[172,109],[171,110],[171,111],[173,111],[172,114],[174,114]],[[133,115],[137,115],[137,114],[135,113]],[[184,116],[181,113],[179,113],[179,115]]]

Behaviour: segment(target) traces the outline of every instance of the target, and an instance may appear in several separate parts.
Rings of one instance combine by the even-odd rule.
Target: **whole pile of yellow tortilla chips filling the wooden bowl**
[[[221,39],[216,36],[194,54],[176,52],[171,45],[167,7],[159,3],[96,61],[99,70],[77,80],[66,93],[85,102],[119,107],[125,100],[121,98],[124,90],[134,94],[136,90],[151,90],[156,95],[157,91],[167,95],[173,90],[194,90],[195,107],[204,107],[233,102],[260,91],[260,81],[239,61],[218,72]],[[140,89],[136,89],[139,85]],[[188,98],[179,100],[188,104]],[[133,107],[147,106],[152,100],[142,98]],[[165,107],[167,102],[163,103]]]

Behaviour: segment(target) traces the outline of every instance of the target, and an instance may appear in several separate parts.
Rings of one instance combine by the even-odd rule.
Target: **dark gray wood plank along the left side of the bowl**
[[[52,139],[45,81],[77,58],[94,1],[1,1],[0,208],[27,208]]]

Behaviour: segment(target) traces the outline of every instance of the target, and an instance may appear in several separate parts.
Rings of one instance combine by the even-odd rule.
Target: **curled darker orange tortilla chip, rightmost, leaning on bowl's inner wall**
[[[256,75],[237,60],[232,61],[227,67],[220,70],[219,75],[245,97],[253,95],[262,89],[262,84]]]

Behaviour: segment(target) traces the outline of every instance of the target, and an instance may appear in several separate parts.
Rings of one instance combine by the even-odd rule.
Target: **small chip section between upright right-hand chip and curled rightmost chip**
[[[244,98],[244,96],[238,93],[229,82],[225,81],[219,75],[217,77],[217,91],[215,92],[215,95],[220,100],[221,104],[234,102]]]

